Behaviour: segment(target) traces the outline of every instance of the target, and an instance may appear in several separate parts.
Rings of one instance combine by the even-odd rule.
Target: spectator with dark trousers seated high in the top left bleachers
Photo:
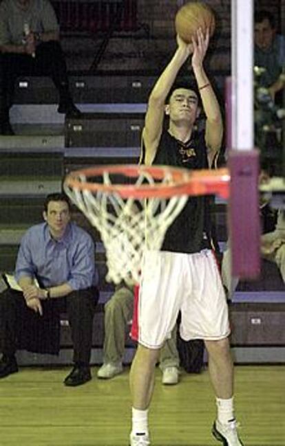
[[[80,115],[68,87],[59,23],[48,0],[1,1],[0,134],[13,134],[9,109],[19,76],[50,76],[59,91],[59,113]]]

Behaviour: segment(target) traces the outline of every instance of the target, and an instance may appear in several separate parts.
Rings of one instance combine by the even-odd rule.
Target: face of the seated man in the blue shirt
[[[65,201],[50,201],[47,212],[43,212],[43,218],[50,228],[50,233],[55,238],[63,236],[70,221],[70,209]]]

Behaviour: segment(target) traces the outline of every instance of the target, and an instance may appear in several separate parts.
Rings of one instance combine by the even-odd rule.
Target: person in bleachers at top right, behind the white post
[[[264,10],[255,14],[254,36],[254,63],[265,68],[260,86],[268,88],[275,100],[285,86],[285,36],[276,33],[273,15]]]

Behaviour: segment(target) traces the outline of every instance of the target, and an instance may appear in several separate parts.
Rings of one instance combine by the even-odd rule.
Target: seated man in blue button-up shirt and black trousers
[[[64,194],[45,199],[44,223],[21,240],[14,278],[21,291],[0,294],[0,378],[18,371],[15,353],[59,353],[59,314],[66,311],[74,344],[74,368],[65,386],[91,379],[92,324],[98,272],[91,236],[70,221]]]

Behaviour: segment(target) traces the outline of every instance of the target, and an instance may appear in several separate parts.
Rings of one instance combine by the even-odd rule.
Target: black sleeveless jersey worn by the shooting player
[[[153,164],[187,169],[208,168],[204,132],[193,131],[191,140],[182,143],[163,131]],[[193,254],[209,245],[211,222],[209,197],[189,197],[182,212],[165,234],[162,251]]]

